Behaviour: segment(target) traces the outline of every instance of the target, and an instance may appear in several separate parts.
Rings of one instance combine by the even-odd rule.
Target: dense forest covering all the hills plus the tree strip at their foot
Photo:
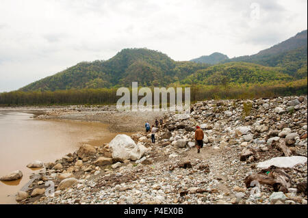
[[[123,49],[106,61],[81,62],[1,93],[0,105],[111,104],[119,98],[116,89],[133,81],[140,87],[192,87],[194,100],[307,94],[307,31],[233,59],[214,53],[176,62],[159,51]]]

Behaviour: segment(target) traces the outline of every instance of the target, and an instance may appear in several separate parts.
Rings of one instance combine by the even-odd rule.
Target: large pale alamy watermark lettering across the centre
[[[122,96],[116,103],[118,111],[180,111],[190,113],[190,87],[154,87],[154,95],[149,87],[141,87],[138,90],[138,82],[133,82],[131,92],[127,87],[120,87],[116,96]],[[169,105],[168,105],[169,94]],[[162,99],[160,98],[162,95]],[[138,96],[143,96],[138,101]],[[154,101],[153,101],[154,97]],[[153,104],[154,103],[154,104]]]

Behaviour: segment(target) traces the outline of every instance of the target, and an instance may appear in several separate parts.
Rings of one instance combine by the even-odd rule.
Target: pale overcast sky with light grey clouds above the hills
[[[0,92],[148,48],[253,55],[307,29],[307,0],[0,0]]]

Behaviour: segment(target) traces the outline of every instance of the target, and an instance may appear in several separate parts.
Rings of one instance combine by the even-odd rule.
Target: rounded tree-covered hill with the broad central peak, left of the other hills
[[[206,64],[175,62],[149,49],[123,49],[107,61],[81,62],[31,83],[21,91],[129,86],[133,81],[143,86],[166,86],[206,67]]]

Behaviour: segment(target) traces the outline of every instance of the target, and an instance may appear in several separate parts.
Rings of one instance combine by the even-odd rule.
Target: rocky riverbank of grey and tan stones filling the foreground
[[[84,119],[103,113],[88,112]],[[200,153],[196,125],[206,136]],[[282,158],[276,167],[260,167],[274,157]],[[251,187],[254,175],[274,182]],[[140,132],[84,145],[31,178],[20,204],[307,204],[307,96],[198,102],[190,114],[164,113],[155,144]],[[55,193],[46,196],[50,184]]]

